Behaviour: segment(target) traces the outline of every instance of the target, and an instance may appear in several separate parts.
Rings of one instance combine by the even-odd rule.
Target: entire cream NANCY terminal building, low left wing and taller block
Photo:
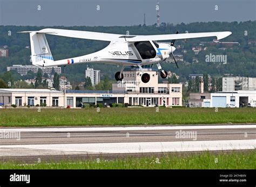
[[[0,103],[17,106],[80,107],[81,103],[128,103],[130,106],[148,107],[182,106],[182,84],[158,83],[158,72],[145,69],[150,74],[148,83],[141,81],[142,71],[124,71],[124,79],[112,85],[111,91],[49,89],[0,89]]]

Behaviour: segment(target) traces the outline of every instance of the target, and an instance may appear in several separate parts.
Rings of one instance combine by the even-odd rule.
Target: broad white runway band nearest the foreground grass
[[[255,149],[256,140],[214,140],[176,142],[120,142],[120,143],[70,143],[44,145],[9,145],[0,149],[0,156],[28,155],[76,155],[76,154],[122,154],[193,152],[205,150]]]

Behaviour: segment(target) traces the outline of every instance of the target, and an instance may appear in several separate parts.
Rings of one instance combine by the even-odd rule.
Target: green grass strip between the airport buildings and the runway
[[[256,123],[256,108],[0,109],[0,126]]]

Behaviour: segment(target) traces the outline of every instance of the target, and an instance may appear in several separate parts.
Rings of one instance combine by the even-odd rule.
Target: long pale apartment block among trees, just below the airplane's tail
[[[52,67],[38,67],[38,66],[32,66],[32,65],[12,65],[11,67],[7,67],[7,71],[10,70],[16,70],[21,76],[24,76],[28,73],[28,71],[33,71],[33,73],[37,73],[38,69],[41,68],[43,70],[43,74],[48,74],[48,76],[51,75]],[[53,66],[53,69],[56,73],[61,74],[62,68],[58,66]]]

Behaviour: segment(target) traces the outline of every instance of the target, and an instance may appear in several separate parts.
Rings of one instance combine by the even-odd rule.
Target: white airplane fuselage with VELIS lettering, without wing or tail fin
[[[143,66],[164,61],[170,56],[171,52],[175,51],[175,47],[169,44],[157,44],[157,47],[152,41],[145,41],[146,45],[143,42],[142,44],[136,43],[138,42],[113,41],[107,47],[95,53],[57,60],[53,62],[54,64],[48,61],[38,61],[35,65],[48,67],[80,63],[109,63],[124,66]]]

